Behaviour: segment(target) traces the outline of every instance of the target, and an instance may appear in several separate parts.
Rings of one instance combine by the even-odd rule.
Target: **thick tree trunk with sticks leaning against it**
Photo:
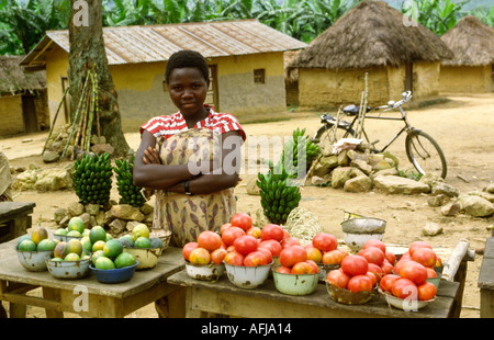
[[[76,3],[76,9],[75,9]],[[82,7],[81,3],[83,4]],[[87,5],[86,5],[87,4]],[[101,135],[115,150],[113,156],[125,156],[128,144],[122,132],[117,94],[108,67],[103,41],[102,0],[70,0],[69,18],[69,68],[71,107],[74,115],[82,93],[88,70],[94,67],[98,78],[98,106]],[[97,134],[96,120],[93,135]]]

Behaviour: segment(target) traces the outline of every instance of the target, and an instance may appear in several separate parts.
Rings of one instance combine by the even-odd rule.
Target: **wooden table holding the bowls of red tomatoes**
[[[291,296],[279,293],[271,277],[257,288],[245,290],[233,285],[226,274],[209,282],[191,279],[183,270],[170,275],[168,282],[187,287],[187,317],[215,313],[255,318],[449,318],[457,315],[456,298],[460,291],[460,283],[444,281],[436,301],[418,311],[404,311],[389,306],[379,294],[364,305],[336,303],[325,283],[318,283],[311,295]]]

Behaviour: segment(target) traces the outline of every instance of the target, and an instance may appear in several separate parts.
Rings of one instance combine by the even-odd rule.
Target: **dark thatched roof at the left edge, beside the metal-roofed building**
[[[24,56],[0,56],[0,95],[46,88],[46,71],[26,72],[19,64]]]

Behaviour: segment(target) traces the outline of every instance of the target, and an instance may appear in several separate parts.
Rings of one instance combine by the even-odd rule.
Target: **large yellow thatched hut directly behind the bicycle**
[[[438,94],[439,61],[452,53],[431,31],[383,1],[362,1],[301,50],[289,68],[299,70],[302,106],[360,102],[369,75],[371,105]]]

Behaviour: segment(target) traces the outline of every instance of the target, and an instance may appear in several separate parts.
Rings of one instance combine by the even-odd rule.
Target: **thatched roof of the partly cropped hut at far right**
[[[442,65],[483,66],[494,63],[494,29],[475,16],[464,16],[442,35],[441,41],[454,54]]]

